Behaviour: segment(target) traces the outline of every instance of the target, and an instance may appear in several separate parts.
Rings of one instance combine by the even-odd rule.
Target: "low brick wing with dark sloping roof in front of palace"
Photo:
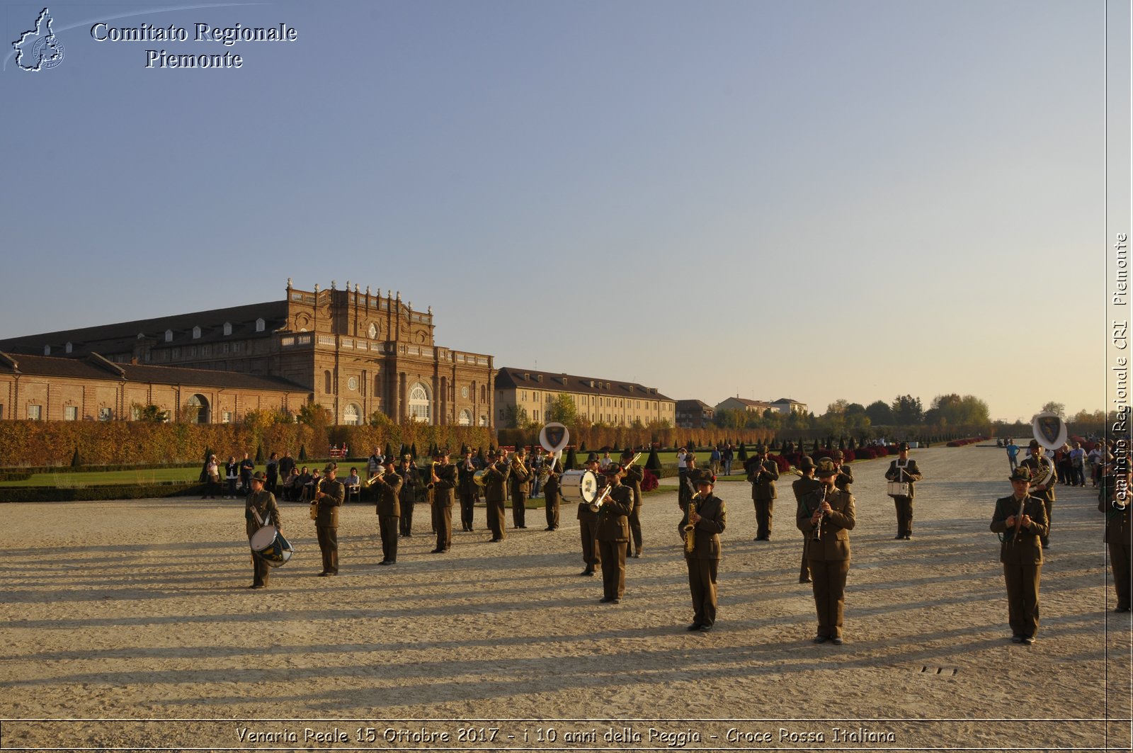
[[[116,364],[97,354],[54,358],[0,353],[0,418],[137,420],[153,405],[169,420],[232,423],[249,411],[292,413],[310,391],[279,376]]]

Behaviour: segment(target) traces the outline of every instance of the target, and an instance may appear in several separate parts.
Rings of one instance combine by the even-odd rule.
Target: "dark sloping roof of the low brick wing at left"
[[[282,376],[261,376],[211,369],[112,363],[96,353],[86,358],[57,358],[0,352],[0,373],[74,379],[116,379],[154,384],[191,384],[274,392],[310,391],[303,384]]]

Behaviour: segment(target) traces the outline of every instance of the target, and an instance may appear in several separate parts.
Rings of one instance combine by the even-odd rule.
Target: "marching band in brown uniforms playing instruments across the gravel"
[[[493,449],[485,467],[477,467],[472,452],[465,449],[458,464],[450,463],[448,449],[438,449],[426,471],[420,471],[406,455],[398,467],[392,458],[367,466],[369,477],[364,487],[376,499],[382,561],[393,565],[398,559],[398,533],[412,535],[412,506],[418,489],[427,492],[431,505],[436,547],[433,552],[449,551],[452,543],[452,507],[459,496],[461,527],[474,530],[476,500],[483,492],[486,502],[487,527],[491,542],[506,539],[504,507],[511,491],[512,523],[523,528],[528,484],[538,480],[545,493],[546,531],[560,525],[560,501],[578,506],[577,518],[581,536],[583,569],[580,575],[595,576],[602,569],[602,603],[620,603],[625,594],[627,557],[640,558],[642,535],[640,524],[641,481],[644,469],[638,464],[641,454],[623,452],[620,462],[602,467],[596,452],[590,452],[585,467],[564,469],[561,454],[566,447],[565,428],[552,431],[551,425],[540,434],[540,446],[548,451],[539,454],[538,463],[527,462],[525,448],[514,452]],[[1064,431],[1064,430],[1063,430]],[[1042,456],[1046,442],[1031,442],[1031,454],[1012,473],[1014,494],[997,500],[991,531],[999,534],[1000,560],[1007,584],[1008,617],[1012,640],[1032,644],[1039,627],[1039,578],[1042,549],[1047,548],[1050,531],[1050,504],[1057,476],[1054,464]],[[1047,437],[1047,440],[1050,438]],[[909,539],[911,531],[913,483],[922,479],[920,468],[909,459],[909,446],[898,446],[898,457],[885,472],[887,493],[897,500],[897,538]],[[375,451],[376,455],[376,451]],[[815,643],[843,643],[846,574],[850,569],[850,536],[854,527],[854,498],[849,488],[852,473],[842,464],[841,452],[828,452],[815,463],[802,457],[800,468],[791,468],[800,476],[792,484],[796,500],[796,526],[803,533],[803,555],[800,583],[811,583],[818,629]],[[1128,611],[1133,593],[1133,545],[1130,543],[1130,514],[1124,490],[1133,481],[1130,459],[1115,460],[1121,466],[1121,496],[1104,487],[1098,509],[1107,514],[1107,543],[1110,548],[1117,590],[1117,611]],[[373,459],[373,458],[372,458]],[[1121,462],[1119,462],[1121,460]],[[747,480],[751,484],[758,523],[757,541],[767,541],[772,532],[772,511],[775,499],[774,481],[778,479],[782,462],[770,458],[763,447],[746,464]],[[696,467],[696,456],[685,452],[684,473],[678,484],[678,507],[681,518],[678,533],[683,543],[688,568],[689,590],[693,619],[689,631],[709,632],[717,619],[717,574],[721,558],[719,534],[726,525],[726,505],[715,496],[716,476],[710,469]],[[816,473],[817,471],[817,473]],[[310,517],[315,521],[323,569],[321,576],[339,572],[338,523],[343,504],[343,485],[337,480],[338,466],[330,463],[324,476],[314,484]],[[1115,477],[1117,475],[1115,474]],[[264,589],[269,584],[270,567],[288,561],[293,549],[279,530],[279,508],[274,496],[264,489],[263,474],[256,474],[250,484],[252,494],[246,507],[246,530],[253,548],[254,582],[249,587]],[[1051,493],[1047,494],[1046,492]],[[902,507],[904,504],[904,508]]]

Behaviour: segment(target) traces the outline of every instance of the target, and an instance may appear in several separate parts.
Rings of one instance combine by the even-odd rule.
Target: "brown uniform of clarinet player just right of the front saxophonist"
[[[829,504],[830,511],[819,521],[821,535],[820,540],[815,541],[811,517],[824,499]],[[796,523],[799,530],[810,536],[807,543],[807,564],[810,566],[815,608],[818,612],[816,643],[827,640],[842,642],[846,575],[850,573],[850,531],[855,522],[853,494],[836,487],[827,489],[824,485],[799,502]]]

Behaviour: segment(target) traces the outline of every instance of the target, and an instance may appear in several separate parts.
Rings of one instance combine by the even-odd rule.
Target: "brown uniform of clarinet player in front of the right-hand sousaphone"
[[[1024,460],[1025,463],[1025,460]],[[1016,473],[1022,468],[1016,468]],[[1015,637],[1032,640],[1039,629],[1039,578],[1042,574],[1041,536],[1047,534],[1046,508],[1042,500],[1028,494],[1023,513],[1031,517],[1031,525],[1007,527],[1007,518],[1020,514],[1020,500],[1014,494],[995,502],[991,531],[1000,534],[999,561],[1007,584],[1007,621]]]

